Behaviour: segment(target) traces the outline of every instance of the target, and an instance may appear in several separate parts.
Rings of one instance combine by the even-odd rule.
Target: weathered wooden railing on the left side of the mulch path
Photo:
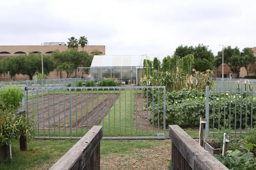
[[[99,170],[102,126],[93,126],[50,170]]]

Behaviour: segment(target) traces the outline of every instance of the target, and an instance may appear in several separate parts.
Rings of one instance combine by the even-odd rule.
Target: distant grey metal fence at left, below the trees
[[[81,78],[61,78],[61,79],[44,79],[44,80],[18,80],[18,81],[1,81],[0,87],[19,85],[21,87],[65,87],[66,84],[74,84]]]

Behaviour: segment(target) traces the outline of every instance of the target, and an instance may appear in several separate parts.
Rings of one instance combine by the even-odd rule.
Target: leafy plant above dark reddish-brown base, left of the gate
[[[16,116],[17,135],[20,137],[20,150],[27,150],[27,140],[34,137],[34,130],[31,128],[34,125],[34,118],[25,118],[24,114]]]

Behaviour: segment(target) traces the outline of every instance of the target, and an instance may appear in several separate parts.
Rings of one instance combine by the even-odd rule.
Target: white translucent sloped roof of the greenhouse
[[[167,55],[147,55],[148,59],[153,60],[159,57],[162,61]],[[139,67],[143,64],[144,55],[94,55],[91,67]]]

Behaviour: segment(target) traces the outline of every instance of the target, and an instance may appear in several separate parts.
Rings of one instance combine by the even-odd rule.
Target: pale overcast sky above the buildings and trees
[[[0,45],[87,37],[112,54],[173,54],[178,45],[256,46],[256,0],[0,0]]]

